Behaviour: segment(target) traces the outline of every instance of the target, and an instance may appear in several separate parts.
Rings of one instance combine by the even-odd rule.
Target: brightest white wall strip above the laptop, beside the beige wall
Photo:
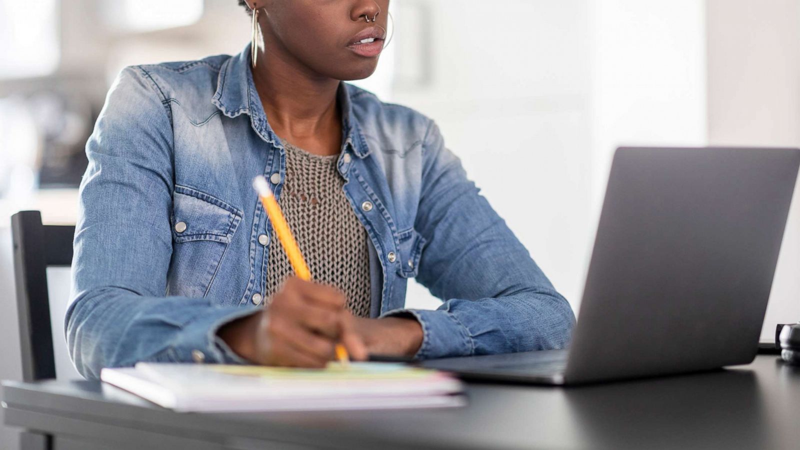
[[[590,2],[594,215],[617,147],[706,145],[704,3]]]

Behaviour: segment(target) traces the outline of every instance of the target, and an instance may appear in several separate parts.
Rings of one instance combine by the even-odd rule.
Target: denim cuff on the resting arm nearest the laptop
[[[422,326],[422,346],[416,360],[431,360],[446,356],[470,356],[474,343],[470,331],[450,311],[426,309],[396,309],[381,317],[412,315]]]

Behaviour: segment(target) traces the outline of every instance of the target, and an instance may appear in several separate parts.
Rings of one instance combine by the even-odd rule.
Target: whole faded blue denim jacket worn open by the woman
[[[244,363],[216,331],[254,311],[269,276],[275,243],[251,181],[266,175],[279,196],[286,175],[249,51],[128,67],[114,82],[86,145],[65,323],[83,376],[138,361]],[[438,127],[345,83],[339,102],[338,171],[370,239],[372,317],[414,315],[420,359],[566,346],[570,305]],[[403,309],[412,277],[442,306]]]

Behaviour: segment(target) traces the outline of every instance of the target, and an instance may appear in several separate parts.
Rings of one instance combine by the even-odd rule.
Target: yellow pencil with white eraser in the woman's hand
[[[278,235],[278,240],[281,241],[283,250],[286,251],[286,256],[289,257],[289,263],[294,268],[294,273],[298,275],[299,279],[310,281],[311,271],[308,268],[308,264],[306,264],[306,259],[302,257],[297,241],[294,240],[292,231],[289,229],[289,223],[286,223],[286,218],[283,217],[281,207],[275,200],[275,196],[272,195],[270,184],[266,182],[262,175],[258,175],[253,180],[253,187],[258,192],[258,198],[261,199],[261,203],[266,209],[266,214],[270,217],[272,227],[275,230],[275,234]],[[347,350],[342,344],[336,344],[336,358],[343,365],[346,365],[347,361],[350,360],[350,356],[347,355]]]

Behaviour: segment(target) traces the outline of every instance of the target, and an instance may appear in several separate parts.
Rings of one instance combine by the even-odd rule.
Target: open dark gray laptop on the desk
[[[798,149],[618,149],[569,351],[424,365],[582,384],[750,363],[798,164]]]

